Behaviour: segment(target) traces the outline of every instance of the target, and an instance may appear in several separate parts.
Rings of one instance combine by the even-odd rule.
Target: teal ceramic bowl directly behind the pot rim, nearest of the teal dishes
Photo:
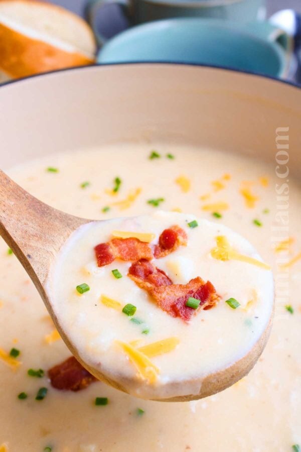
[[[182,62],[284,77],[289,38],[268,23],[169,19],[133,27],[108,41],[98,63]]]

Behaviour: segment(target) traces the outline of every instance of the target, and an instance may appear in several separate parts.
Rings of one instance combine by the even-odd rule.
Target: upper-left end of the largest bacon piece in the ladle
[[[150,292],[154,287],[169,286],[173,284],[172,280],[163,270],[155,267],[152,263],[141,259],[134,262],[128,269],[128,276],[141,289]]]

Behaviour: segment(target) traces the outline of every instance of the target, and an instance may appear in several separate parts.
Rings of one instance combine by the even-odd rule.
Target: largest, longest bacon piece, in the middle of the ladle
[[[198,310],[210,309],[220,299],[210,281],[205,283],[197,277],[188,284],[173,284],[162,270],[143,259],[130,266],[128,276],[141,289],[146,290],[161,309],[186,321]],[[198,309],[186,306],[189,297],[201,301]]]

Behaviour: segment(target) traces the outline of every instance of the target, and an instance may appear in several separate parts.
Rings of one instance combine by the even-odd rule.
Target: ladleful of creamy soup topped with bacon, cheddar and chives
[[[77,230],[48,293],[84,362],[126,392],[198,395],[201,377],[244,357],[269,322],[273,277],[259,259],[222,224],[155,210]]]

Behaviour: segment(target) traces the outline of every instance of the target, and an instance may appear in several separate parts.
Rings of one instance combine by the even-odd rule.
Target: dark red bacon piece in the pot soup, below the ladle
[[[80,391],[97,379],[74,356],[48,371],[51,386],[67,391]]]

